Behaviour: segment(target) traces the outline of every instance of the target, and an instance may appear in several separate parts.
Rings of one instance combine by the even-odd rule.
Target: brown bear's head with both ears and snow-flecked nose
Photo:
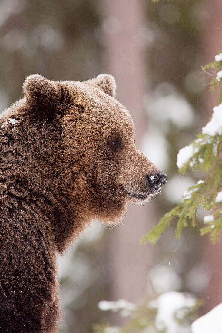
[[[136,148],[132,118],[115,90],[106,74],[85,82],[30,75],[24,83],[32,112],[56,119],[61,130],[55,168],[63,188],[90,218],[109,224],[121,220],[127,201],[148,200],[167,180]]]

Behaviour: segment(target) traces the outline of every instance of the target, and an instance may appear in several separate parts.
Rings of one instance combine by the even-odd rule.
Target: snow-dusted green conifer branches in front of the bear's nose
[[[141,242],[147,240],[155,244],[161,234],[177,219],[175,237],[180,238],[182,230],[190,225],[197,225],[196,215],[198,209],[211,211],[204,217],[205,225],[200,228],[200,234],[210,234],[211,241],[217,242],[222,231],[222,52],[215,61],[204,66],[203,71],[211,77],[210,92],[219,88],[217,106],[213,109],[209,123],[202,128],[196,140],[189,146],[182,148],[177,155],[177,166],[182,175],[189,168],[201,170],[206,174],[204,180],[199,180],[189,187],[180,203],[166,213],[146,234]]]

